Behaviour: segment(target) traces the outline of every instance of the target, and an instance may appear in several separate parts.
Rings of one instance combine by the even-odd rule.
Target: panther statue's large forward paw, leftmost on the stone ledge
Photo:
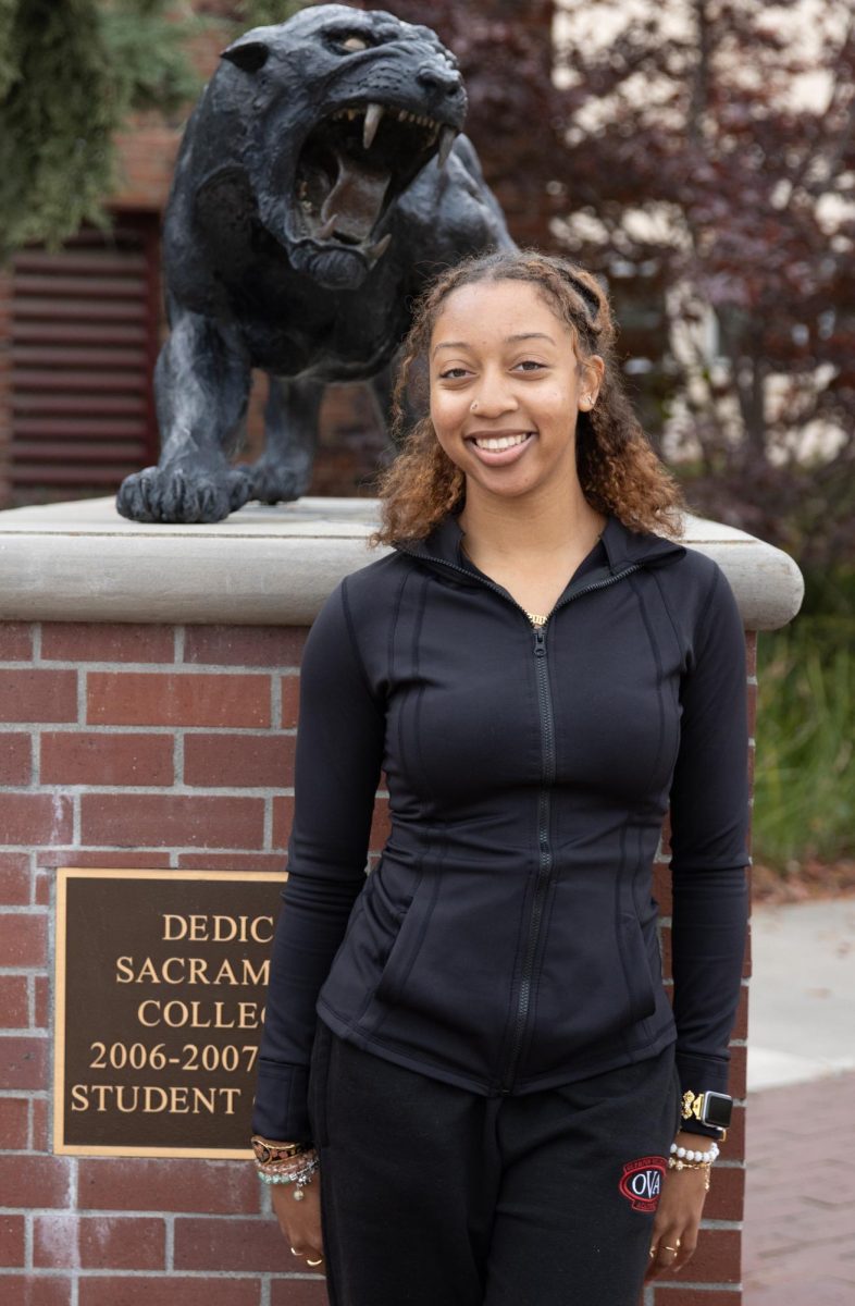
[[[251,498],[240,468],[145,468],[121,482],[116,509],[132,521],[222,521]]]

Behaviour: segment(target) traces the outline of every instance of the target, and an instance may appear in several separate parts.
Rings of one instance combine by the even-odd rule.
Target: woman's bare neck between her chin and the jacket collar
[[[478,552],[520,559],[590,549],[606,517],[591,508],[574,478],[570,486],[547,486],[534,502],[526,495],[499,499],[469,483],[459,524],[470,556]]]

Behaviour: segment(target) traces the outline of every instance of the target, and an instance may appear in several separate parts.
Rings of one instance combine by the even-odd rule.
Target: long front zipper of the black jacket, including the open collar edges
[[[495,590],[506,602],[513,603],[514,607],[526,618],[530,623],[529,614],[526,613],[522,603],[517,603],[516,598],[508,594],[506,590],[495,585],[487,577],[476,576],[474,572],[467,571],[465,567],[458,567],[457,563],[445,562],[441,558],[431,558],[429,562],[439,563],[441,567],[450,567],[453,571],[462,572],[473,580],[480,581],[488,589]],[[538,709],[540,716],[540,778],[542,788],[538,794],[538,878],[534,888],[534,900],[531,902],[531,916],[529,917],[529,931],[526,935],[526,947],[522,955],[522,974],[520,977],[520,993],[517,996],[517,1015],[514,1020],[514,1033],[513,1042],[510,1045],[510,1054],[505,1063],[505,1072],[501,1076],[499,1084],[499,1092],[503,1096],[508,1096],[513,1091],[513,1080],[517,1074],[517,1063],[520,1060],[520,1054],[522,1051],[522,1041],[526,1032],[526,1024],[529,1020],[529,1004],[531,1002],[531,982],[534,980],[534,959],[538,951],[538,943],[540,940],[540,926],[543,923],[543,908],[546,905],[546,895],[550,887],[550,880],[552,878],[552,846],[550,844],[550,812],[551,812],[551,799],[550,799],[550,786],[555,782],[555,717],[552,713],[552,690],[550,686],[550,667],[547,663],[547,650],[546,650],[546,627],[552,620],[555,613],[559,607],[564,607],[567,603],[572,603],[573,599],[581,598],[582,594],[590,594],[597,589],[606,589],[608,585],[615,585],[624,576],[630,576],[632,572],[641,571],[641,563],[633,563],[625,567],[624,571],[616,572],[614,576],[608,576],[604,580],[593,581],[583,589],[578,589],[574,594],[568,594],[565,599],[560,599],[552,611],[547,615],[544,626],[538,626],[534,628],[534,667],[538,684]]]

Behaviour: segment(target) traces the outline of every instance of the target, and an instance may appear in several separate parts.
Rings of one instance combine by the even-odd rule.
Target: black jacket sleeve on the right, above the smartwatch
[[[676,1062],[681,1092],[726,1093],[751,858],[745,635],[718,565],[680,697],[680,748],[671,788]]]

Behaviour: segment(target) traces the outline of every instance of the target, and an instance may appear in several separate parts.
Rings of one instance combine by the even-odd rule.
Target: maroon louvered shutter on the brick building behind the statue
[[[16,502],[107,494],[157,461],[158,230],[121,217],[57,253],[22,251],[12,276]]]

